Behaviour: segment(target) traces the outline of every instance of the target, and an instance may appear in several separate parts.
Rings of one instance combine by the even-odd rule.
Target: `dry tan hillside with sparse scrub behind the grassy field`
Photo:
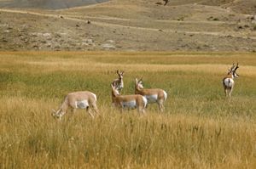
[[[0,1],[1,2],[1,1]],[[0,50],[256,51],[254,0],[0,9]]]

